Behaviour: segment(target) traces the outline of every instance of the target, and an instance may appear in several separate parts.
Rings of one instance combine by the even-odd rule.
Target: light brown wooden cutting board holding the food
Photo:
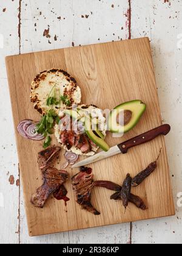
[[[160,126],[149,38],[10,56],[6,63],[30,236],[175,215],[164,137],[131,149],[126,155],[91,165],[95,180],[121,184],[128,172],[135,176],[153,162],[163,148],[155,173],[140,187],[132,188],[132,193],[142,197],[149,210],[144,212],[130,204],[124,214],[121,202],[110,201],[112,191],[95,188],[92,202],[101,215],[94,216],[76,204],[70,179],[66,183],[70,197],[67,206],[53,197],[43,209],[30,204],[32,193],[42,185],[37,165],[37,153],[42,150],[42,142],[25,140],[16,130],[22,119],[40,119],[30,103],[30,84],[36,74],[50,68],[64,69],[75,77],[81,87],[84,104],[112,109],[133,99],[146,102],[147,110],[140,123],[123,138],[112,138],[109,134],[106,141],[110,146]],[[62,150],[56,163],[58,168],[65,161],[63,154]],[[78,169],[67,170],[70,177],[78,172]]]

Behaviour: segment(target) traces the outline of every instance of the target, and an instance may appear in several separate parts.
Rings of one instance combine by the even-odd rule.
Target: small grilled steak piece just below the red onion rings
[[[42,174],[44,174],[44,171],[52,165],[52,162],[58,157],[60,151],[60,147],[52,146],[38,153],[38,166],[41,169]]]

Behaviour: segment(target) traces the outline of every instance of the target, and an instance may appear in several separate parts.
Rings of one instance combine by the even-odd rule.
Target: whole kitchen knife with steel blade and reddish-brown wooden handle
[[[89,165],[90,163],[95,163],[97,161],[103,160],[108,157],[112,157],[113,155],[117,155],[120,153],[126,154],[130,148],[147,143],[157,138],[160,135],[167,135],[169,132],[170,132],[169,124],[163,124],[163,126],[159,126],[155,129],[149,130],[149,132],[145,132],[139,136],[136,136],[135,138],[132,138],[121,144],[118,144],[117,146],[113,146],[107,152],[104,152],[104,151],[99,152],[98,154],[93,155],[92,157],[89,157],[79,163],[76,163],[72,167],[76,168],[79,166]]]

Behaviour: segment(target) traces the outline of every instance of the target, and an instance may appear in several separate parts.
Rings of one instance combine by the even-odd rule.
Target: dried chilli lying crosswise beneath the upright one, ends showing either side
[[[110,199],[112,200],[122,200],[121,193],[117,191],[116,193],[112,194],[110,196]],[[135,196],[134,194],[130,194],[129,196],[129,202],[134,204],[137,208],[140,208],[141,210],[147,210],[147,206],[144,204],[143,200],[139,196]]]

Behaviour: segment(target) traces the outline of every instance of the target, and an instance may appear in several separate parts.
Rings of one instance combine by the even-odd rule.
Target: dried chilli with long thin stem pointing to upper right
[[[160,154],[158,155],[158,158],[160,157]],[[141,171],[132,179],[132,187],[138,187],[138,185],[140,185],[147,177],[150,176],[150,174],[152,174],[153,171],[155,171],[155,169],[157,168],[158,158],[155,162],[150,163],[150,165],[147,166],[147,168],[144,169],[144,171]]]

